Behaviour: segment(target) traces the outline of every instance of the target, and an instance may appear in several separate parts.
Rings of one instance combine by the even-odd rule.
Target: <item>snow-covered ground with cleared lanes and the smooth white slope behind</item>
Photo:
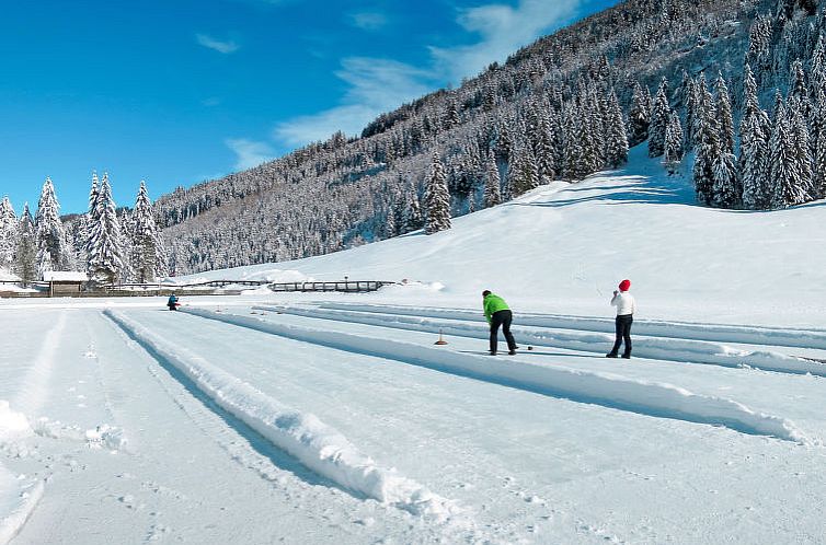
[[[409,280],[378,293],[1,300],[0,543],[826,542],[822,202],[702,209],[634,164],[198,275]],[[483,356],[483,288],[517,356]]]

